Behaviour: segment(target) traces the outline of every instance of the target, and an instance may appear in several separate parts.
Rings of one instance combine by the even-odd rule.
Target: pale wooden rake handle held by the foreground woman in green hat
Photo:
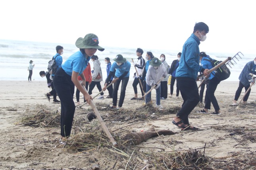
[[[85,86],[83,85],[83,88],[85,89]],[[87,91],[85,89],[85,91]],[[104,132],[107,134],[108,138],[110,139],[110,142],[112,142],[112,145],[113,146],[116,146],[117,143],[115,142],[113,136],[110,134],[110,131],[108,130],[106,124],[104,123],[104,121],[102,120],[101,116],[100,116],[100,113],[98,112],[95,104],[93,103],[92,100],[90,100],[90,106],[92,107],[92,110],[94,111],[95,115],[97,116],[99,122],[100,122],[100,125],[101,127],[103,128]]]

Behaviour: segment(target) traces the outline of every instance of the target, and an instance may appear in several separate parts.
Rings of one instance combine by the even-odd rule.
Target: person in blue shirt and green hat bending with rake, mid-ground
[[[127,61],[125,58],[123,58],[121,54],[118,54],[115,57],[114,61],[115,62],[112,64],[110,68],[110,74],[108,75],[105,81],[105,86],[103,87],[103,90],[104,91],[106,90],[111,76],[115,75],[112,81],[112,83],[114,83],[114,89],[113,89],[113,99],[112,99],[113,106],[111,106],[111,108],[120,109],[123,106],[123,101],[125,99],[125,90],[129,81],[131,63]],[[121,94],[120,94],[119,103],[117,107],[117,92],[118,92],[121,81],[122,81]]]

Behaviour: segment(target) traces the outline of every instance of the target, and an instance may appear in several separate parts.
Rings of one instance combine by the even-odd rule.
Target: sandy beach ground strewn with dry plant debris
[[[103,82],[101,83],[103,85]],[[134,95],[132,83],[133,81],[129,81],[127,85],[125,101],[120,111],[104,110],[103,106],[108,104],[111,106],[112,104],[112,99],[106,98],[107,91],[104,94],[105,99],[94,99],[94,103],[98,104],[96,106],[100,106],[98,110],[110,132],[114,131],[112,132],[114,138],[115,136],[124,136],[124,133],[131,131],[143,132],[152,127],[158,130],[171,130],[175,134],[153,137],[132,148],[144,156],[147,155],[146,153],[151,153],[152,156],[154,154],[169,155],[173,152],[182,153],[190,149],[200,151],[207,156],[208,162],[204,168],[198,169],[256,168],[256,86],[252,87],[248,103],[236,107],[231,106],[231,104],[239,81],[221,82],[215,93],[221,108],[221,115],[196,113],[202,109],[198,105],[191,112],[189,119],[191,124],[200,130],[181,132],[171,123],[171,117],[175,117],[175,114],[166,114],[171,108],[181,107],[183,102],[181,95],[180,98],[168,97],[166,100],[161,100],[164,110],[155,113],[148,111],[148,114],[143,114],[146,115],[144,118],[139,116],[142,113],[138,112],[138,108],[143,110],[143,102],[130,100]],[[48,92],[46,80],[32,82],[1,81],[0,86],[0,169],[2,170],[99,169],[96,166],[100,167],[100,170],[179,169],[179,166],[174,166],[173,162],[168,162],[169,165],[167,165],[166,161],[169,160],[167,158],[164,159],[166,161],[160,161],[162,163],[154,163],[151,157],[140,157],[139,154],[136,155],[135,153],[133,155],[127,150],[122,150],[122,147],[117,147],[119,149],[117,150],[112,147],[111,142],[108,145],[98,142],[98,147],[80,152],[74,151],[68,144],[65,147],[58,147],[60,138],[58,125],[45,126],[46,123],[42,120],[40,125],[31,126],[25,125],[23,120],[28,115],[37,115],[42,111],[50,111],[52,114],[60,112],[60,104],[53,104],[52,100],[48,102],[44,96],[44,93]],[[174,89],[176,90],[176,86]],[[140,91],[139,86],[138,91]],[[98,93],[98,89],[95,87],[92,92],[92,96],[94,96]],[[168,96],[169,92],[168,85]],[[243,94],[244,89],[239,101]],[[153,106],[156,102],[155,96],[156,93],[153,90]],[[80,102],[83,101],[81,98],[82,95],[80,94]],[[75,95],[74,101],[76,101]],[[88,104],[83,108],[90,110]],[[211,108],[210,112],[214,111],[213,106]],[[84,129],[90,132],[89,130],[95,127],[97,128],[94,129],[94,132],[104,134],[98,120],[94,119],[89,122],[86,113],[87,111],[76,110],[74,121],[80,122],[80,124],[72,129],[72,135],[83,135]],[[124,118],[122,118],[122,113],[125,115]],[[121,145],[118,141],[117,144]],[[125,154],[128,156],[125,157]],[[187,168],[183,169],[196,168],[193,168],[193,165],[187,165]]]

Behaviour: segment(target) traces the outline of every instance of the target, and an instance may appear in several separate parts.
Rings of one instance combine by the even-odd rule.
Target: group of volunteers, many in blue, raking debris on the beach
[[[220,81],[215,77],[214,72],[209,72],[212,68],[207,60],[208,55],[204,52],[200,52],[199,44],[206,40],[206,34],[209,32],[209,28],[205,23],[196,23],[194,31],[191,36],[183,45],[183,50],[178,53],[177,59],[174,60],[169,68],[166,62],[164,54],[158,57],[154,57],[152,52],[146,52],[145,59],[143,59],[143,50],[138,48],[136,51],[137,61],[132,61],[135,67],[133,89],[134,97],[131,100],[144,99],[145,104],[150,104],[151,90],[156,90],[156,108],[162,109],[160,105],[161,99],[167,98],[167,81],[168,74],[171,76],[171,92],[170,97],[173,95],[173,85],[176,82],[177,91],[176,97],[179,97],[179,91],[183,98],[183,104],[181,110],[177,113],[176,117],[173,118],[172,123],[181,130],[197,130],[198,128],[193,127],[189,123],[189,114],[200,102],[200,95],[198,92],[198,86],[196,80],[198,80],[198,73],[201,72],[205,78],[208,78],[208,85],[205,96],[205,106],[203,113],[208,113],[210,110],[211,103],[214,106],[215,115],[220,114],[220,108],[214,92],[216,91],[217,85]],[[48,87],[52,87],[54,92],[46,94],[46,98],[50,100],[50,96],[58,94],[61,103],[61,140],[67,140],[71,133],[71,127],[73,122],[73,116],[75,113],[75,102],[73,101],[73,94],[75,87],[77,88],[77,104],[79,102],[79,93],[81,92],[84,96],[84,102],[90,104],[92,100],[92,89],[97,86],[101,92],[99,99],[104,98],[103,91],[108,89],[109,95],[107,98],[112,98],[111,108],[114,110],[120,109],[123,106],[125,99],[125,90],[129,81],[131,62],[118,54],[111,63],[110,59],[105,58],[107,64],[107,78],[104,83],[104,87],[100,86],[100,81],[103,81],[102,70],[98,56],[94,55],[97,50],[104,51],[103,47],[100,47],[98,37],[95,34],[87,34],[84,38],[78,38],[75,45],[79,48],[79,51],[71,55],[63,64],[60,63],[60,67],[54,75],[47,74],[46,72],[40,72],[40,76],[50,77],[52,76],[53,81],[48,82]],[[58,47],[58,48],[57,48]],[[61,57],[63,53],[63,47],[56,47],[56,60]],[[89,60],[93,61],[93,70],[90,68]],[[62,60],[61,60],[62,61]],[[200,64],[201,63],[201,64]],[[254,79],[248,77],[248,73],[256,74],[256,58],[252,62],[248,62],[239,76],[239,88],[237,90],[235,101],[237,101],[243,87],[248,89],[250,82],[254,83]],[[48,80],[48,78],[47,78]],[[250,80],[250,81],[249,81]],[[53,86],[52,86],[53,84]],[[112,86],[114,84],[114,87]],[[118,89],[121,84],[121,93],[118,99]],[[141,89],[142,98],[139,98],[137,85]],[[89,91],[88,90],[89,86]],[[249,93],[247,93],[249,96]],[[248,97],[244,98],[244,102]]]

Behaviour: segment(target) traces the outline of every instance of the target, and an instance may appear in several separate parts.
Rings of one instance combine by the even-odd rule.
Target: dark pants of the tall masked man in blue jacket
[[[190,77],[176,77],[176,79],[184,100],[177,117],[180,117],[184,124],[189,125],[189,114],[200,100],[198,87],[196,81]]]

